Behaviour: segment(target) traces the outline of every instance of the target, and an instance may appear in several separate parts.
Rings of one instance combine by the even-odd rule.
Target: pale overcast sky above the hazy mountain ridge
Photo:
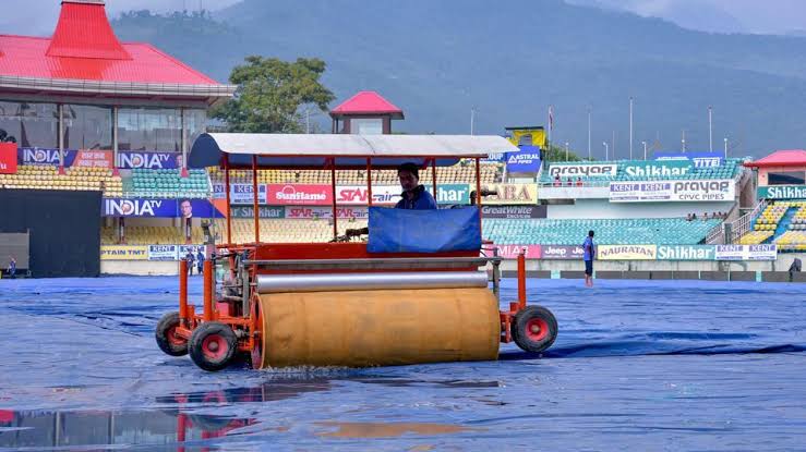
[[[239,0],[107,0],[111,15],[151,9],[172,11],[203,7],[216,10]],[[270,1],[270,0],[266,0]],[[304,0],[299,0],[302,3]],[[377,0],[366,0],[377,1]],[[440,0],[434,0],[440,1]],[[806,36],[806,0],[566,0],[600,4],[641,15],[670,20],[681,26],[717,33],[789,34]],[[59,13],[59,0],[2,0],[0,33],[49,35]],[[490,2],[494,8],[494,1]]]

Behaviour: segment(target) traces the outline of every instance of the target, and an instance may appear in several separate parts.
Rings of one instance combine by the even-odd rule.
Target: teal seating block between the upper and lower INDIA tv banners
[[[179,170],[133,169],[123,188],[127,197],[204,199],[210,195],[205,170],[190,170],[189,176],[182,178]]]

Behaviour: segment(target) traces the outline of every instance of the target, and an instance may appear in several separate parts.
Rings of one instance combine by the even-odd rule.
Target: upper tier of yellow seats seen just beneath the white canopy
[[[420,181],[431,181],[431,168],[420,171]],[[503,167],[498,163],[481,164],[481,180],[484,184],[501,182]],[[437,182],[441,184],[472,183],[476,181],[476,166],[464,160],[459,164],[436,169]],[[224,183],[224,171],[218,168],[210,169],[210,179],[214,183]],[[249,170],[230,171],[230,183],[251,184],[252,172]],[[329,171],[291,171],[269,170],[257,171],[257,183],[260,184],[329,184]],[[364,185],[366,184],[365,170],[337,171],[336,183],[339,185]],[[394,170],[372,171],[373,185],[398,184],[397,172]]]

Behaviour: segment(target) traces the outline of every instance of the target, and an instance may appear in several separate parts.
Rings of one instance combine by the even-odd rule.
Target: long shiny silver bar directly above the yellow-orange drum
[[[485,271],[257,276],[257,293],[486,288]]]

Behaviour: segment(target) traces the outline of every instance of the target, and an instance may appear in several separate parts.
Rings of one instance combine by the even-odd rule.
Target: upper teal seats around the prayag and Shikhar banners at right
[[[549,166],[543,170],[541,176],[540,176],[540,183],[543,185],[551,185],[554,183],[554,176],[551,175],[551,167],[553,164],[581,164],[584,162],[578,161],[555,161],[548,163]],[[640,166],[641,163],[645,163],[643,160],[621,160],[621,161],[596,161],[592,163],[597,164],[617,164],[618,171],[616,172],[615,176],[593,176],[593,178],[587,178],[587,176],[580,176],[582,183],[585,184],[605,184],[609,182],[618,182],[618,181],[661,181],[661,180],[696,180],[696,179],[732,179],[736,176],[738,171],[741,171],[741,159],[727,159],[725,160],[724,164],[721,167],[711,167],[711,168],[695,168],[693,172],[689,174],[683,175],[683,176],[659,176],[659,178],[650,178],[650,176],[640,176],[640,178],[631,178],[627,175],[627,173],[624,171],[624,167],[630,166],[630,164],[637,164]],[[560,179],[563,185],[567,185],[568,182],[575,183],[577,181],[577,176],[573,178],[561,178]]]

